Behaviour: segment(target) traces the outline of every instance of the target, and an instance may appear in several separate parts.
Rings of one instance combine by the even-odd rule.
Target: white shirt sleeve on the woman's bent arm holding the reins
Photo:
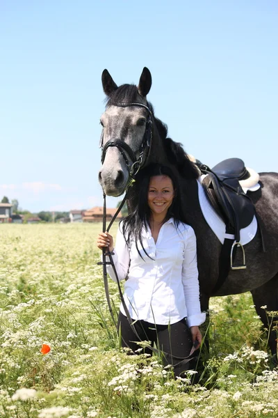
[[[119,280],[124,280],[127,273],[129,272],[129,247],[126,245],[126,240],[124,239],[124,234],[122,233],[122,226],[119,224],[117,229],[116,244],[113,249],[113,261],[115,268],[117,270],[117,277]],[[106,256],[106,261],[109,261],[109,257]],[[113,281],[117,282],[115,277],[115,272],[111,265],[107,265],[107,272]]]

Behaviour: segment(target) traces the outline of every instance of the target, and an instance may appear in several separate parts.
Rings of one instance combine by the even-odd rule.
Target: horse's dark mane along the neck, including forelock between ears
[[[138,100],[138,88],[135,84],[122,84],[116,90],[112,91],[110,95],[106,97],[106,107],[112,106],[113,103],[132,103]],[[149,109],[154,116],[154,107],[152,103],[147,103]],[[171,138],[167,137],[168,128],[165,123],[154,116],[154,123],[158,130],[159,136],[163,141],[167,158],[174,167],[177,168],[179,174],[186,179],[193,179],[199,177],[199,171],[195,164],[191,162],[185,150],[183,150],[182,144],[174,142]]]

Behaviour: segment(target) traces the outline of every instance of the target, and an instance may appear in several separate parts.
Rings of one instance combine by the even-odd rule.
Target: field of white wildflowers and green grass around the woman
[[[278,373],[250,293],[211,299],[197,374],[174,380],[156,356],[122,352],[97,265],[100,230],[0,225],[0,417],[278,417]],[[117,311],[112,281],[110,290]]]

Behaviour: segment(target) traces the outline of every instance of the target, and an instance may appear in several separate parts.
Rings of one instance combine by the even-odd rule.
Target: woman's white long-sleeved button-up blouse
[[[145,320],[157,325],[177,323],[187,318],[188,327],[201,325],[206,314],[201,313],[197,270],[196,237],[191,226],[169,219],[158,234],[156,243],[149,229],[142,231],[142,244],[126,245],[120,224],[117,231],[113,261],[119,280],[124,284],[124,302],[133,320]],[[107,257],[108,258],[108,257]],[[111,265],[108,274],[116,281]],[[126,277],[128,276],[128,277]],[[120,307],[122,314],[124,308]]]

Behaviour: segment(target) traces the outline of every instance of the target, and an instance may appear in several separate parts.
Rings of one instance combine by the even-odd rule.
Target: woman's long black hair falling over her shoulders
[[[179,222],[186,222],[183,215],[181,205],[181,193],[179,187],[179,181],[174,175],[173,171],[161,164],[150,164],[147,168],[141,169],[136,176],[136,182],[132,186],[132,194],[136,199],[136,208],[126,218],[122,220],[122,231],[126,243],[129,245],[130,240],[134,240],[136,249],[138,249],[138,241],[140,242],[143,251],[147,256],[147,251],[142,245],[142,229],[147,229],[147,224],[151,216],[151,210],[148,204],[148,192],[149,192],[149,180],[153,176],[167,176],[172,180],[174,187],[174,199],[171,206],[167,210],[167,214],[163,223],[167,222],[171,217],[174,218],[174,225],[176,228],[179,226]],[[140,254],[141,256],[141,254]],[[141,256],[142,257],[142,256]]]

